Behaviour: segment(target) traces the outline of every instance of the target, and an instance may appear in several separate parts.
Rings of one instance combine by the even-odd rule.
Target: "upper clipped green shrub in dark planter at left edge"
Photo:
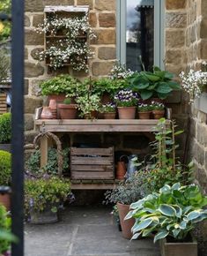
[[[0,116],[0,150],[11,151],[11,113]]]

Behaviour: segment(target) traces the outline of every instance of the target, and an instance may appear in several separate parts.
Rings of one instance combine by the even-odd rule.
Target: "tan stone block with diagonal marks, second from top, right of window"
[[[184,28],[187,26],[187,14],[184,12],[166,12],[166,27]]]

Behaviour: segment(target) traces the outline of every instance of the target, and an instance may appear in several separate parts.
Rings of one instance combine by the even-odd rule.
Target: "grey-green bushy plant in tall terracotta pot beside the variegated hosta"
[[[142,199],[148,192],[146,177],[146,172],[137,172],[126,181],[120,182],[112,191],[105,193],[107,202],[115,203],[117,206],[122,226],[122,236],[127,239],[132,237],[131,228],[135,221],[133,219],[124,221],[124,218],[129,213],[129,205],[135,202],[136,199]]]

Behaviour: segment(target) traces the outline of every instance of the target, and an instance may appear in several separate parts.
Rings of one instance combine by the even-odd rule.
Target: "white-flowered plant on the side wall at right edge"
[[[206,65],[206,64],[203,64]],[[207,72],[190,70],[189,73],[181,72],[181,86],[189,94],[189,104],[202,94],[203,86],[207,84]]]

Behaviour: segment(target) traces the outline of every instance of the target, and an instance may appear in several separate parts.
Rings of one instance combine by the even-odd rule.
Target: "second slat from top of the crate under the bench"
[[[74,164],[102,164],[102,165],[110,165],[113,164],[113,157],[81,157],[81,156],[73,156],[70,158],[71,165]]]

